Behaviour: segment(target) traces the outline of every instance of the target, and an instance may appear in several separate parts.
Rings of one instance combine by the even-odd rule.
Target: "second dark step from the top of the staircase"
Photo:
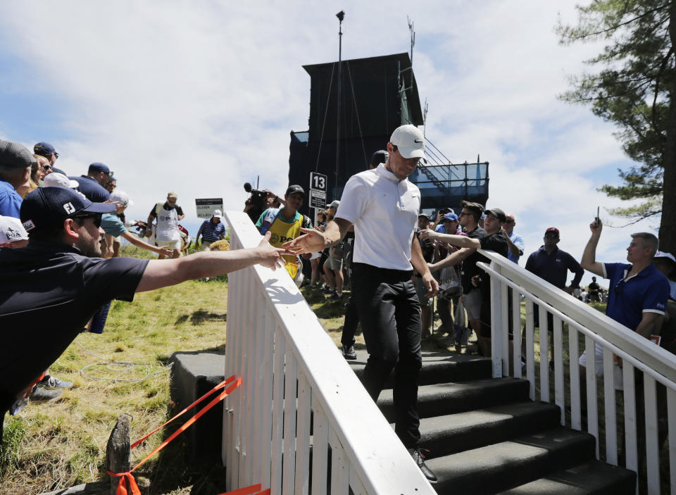
[[[529,387],[526,380],[515,378],[423,385],[418,387],[418,415],[420,418],[432,418],[525,401]],[[378,407],[389,422],[394,422],[392,389],[381,392]]]

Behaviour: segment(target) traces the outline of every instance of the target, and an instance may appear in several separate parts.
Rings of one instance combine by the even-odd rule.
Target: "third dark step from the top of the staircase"
[[[515,402],[420,420],[420,446],[437,458],[532,434],[558,425],[559,408],[544,402]]]

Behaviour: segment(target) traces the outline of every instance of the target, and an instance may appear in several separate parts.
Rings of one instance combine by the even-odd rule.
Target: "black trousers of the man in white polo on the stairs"
[[[353,277],[353,298],[369,354],[364,385],[377,401],[394,369],[394,431],[406,448],[415,447],[420,440],[418,375],[423,360],[420,301],[411,272],[354,263]]]

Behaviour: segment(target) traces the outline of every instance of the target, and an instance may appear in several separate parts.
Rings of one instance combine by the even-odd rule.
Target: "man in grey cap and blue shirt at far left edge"
[[[16,189],[30,178],[35,156],[23,144],[0,139],[0,215],[19,218],[21,196]]]

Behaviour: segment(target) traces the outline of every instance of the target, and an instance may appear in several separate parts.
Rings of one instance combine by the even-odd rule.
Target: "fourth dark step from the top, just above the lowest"
[[[439,495],[494,494],[592,460],[594,437],[556,427],[478,449],[430,459]]]

